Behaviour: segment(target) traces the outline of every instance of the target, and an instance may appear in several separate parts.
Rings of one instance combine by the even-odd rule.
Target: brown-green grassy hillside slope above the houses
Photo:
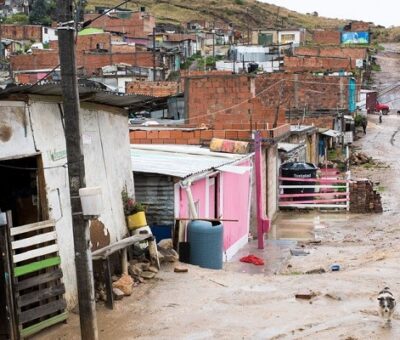
[[[110,6],[121,0],[89,0],[88,9],[94,6]],[[305,27],[336,28],[346,22],[299,14],[282,7],[261,3],[256,0],[140,0],[129,4],[127,8],[137,9],[146,6],[158,22],[183,23],[193,19],[206,19],[210,22],[223,20],[233,22],[236,27],[252,28],[289,28]]]

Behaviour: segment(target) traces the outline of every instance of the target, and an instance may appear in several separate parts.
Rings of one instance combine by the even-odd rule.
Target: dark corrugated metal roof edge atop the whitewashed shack
[[[145,95],[124,95],[104,90],[100,83],[88,82],[87,85],[79,84],[79,96],[87,102],[111,105],[116,107],[129,107],[141,102],[153,100],[153,97]],[[6,88],[0,91],[0,98],[11,94],[36,94],[43,96],[61,96],[62,88],[59,82],[51,82],[43,85],[20,85]]]

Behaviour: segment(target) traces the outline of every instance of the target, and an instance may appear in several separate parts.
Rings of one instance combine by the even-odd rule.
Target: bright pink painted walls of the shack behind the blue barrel
[[[249,166],[249,161],[244,161],[241,166]],[[198,202],[199,218],[214,218],[215,196],[213,195],[212,180],[206,178],[192,183],[192,195],[194,202]],[[224,225],[224,250],[228,250],[237,241],[247,237],[249,233],[249,193],[250,171],[244,174],[228,172],[219,173],[215,181],[217,190],[218,211],[217,216],[224,219],[238,220],[238,222],[223,222]],[[207,205],[207,190],[208,209]],[[180,189],[180,217],[189,217],[189,207],[186,191]],[[221,202],[222,201],[222,202]],[[208,212],[208,214],[207,214]]]

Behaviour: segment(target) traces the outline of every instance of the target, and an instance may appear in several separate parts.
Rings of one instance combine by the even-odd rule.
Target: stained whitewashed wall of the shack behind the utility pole
[[[43,160],[49,217],[56,220],[63,281],[68,307],[77,302],[71,206],[66,163],[66,146],[58,102],[39,97],[24,102],[0,101],[0,126],[9,139],[0,140],[0,159],[25,157],[37,152]],[[125,184],[133,193],[127,118],[119,111],[83,104],[82,139],[86,185],[100,186],[104,211],[100,220],[110,231],[111,240],[126,233],[121,191]],[[47,169],[46,169],[47,168]]]

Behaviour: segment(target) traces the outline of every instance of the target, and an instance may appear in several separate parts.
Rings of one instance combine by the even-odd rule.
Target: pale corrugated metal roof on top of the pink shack
[[[168,175],[181,179],[234,164],[248,155],[212,152],[198,146],[132,145],[134,172]]]

